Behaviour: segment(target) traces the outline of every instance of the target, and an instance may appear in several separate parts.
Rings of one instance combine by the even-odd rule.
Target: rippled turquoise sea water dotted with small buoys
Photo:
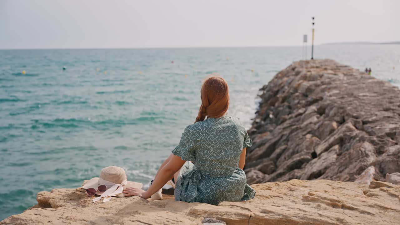
[[[400,85],[400,45],[315,53]],[[228,81],[228,113],[249,128],[258,89],[300,59],[301,47],[0,50],[0,220],[109,165],[147,183],[194,122],[207,74]]]

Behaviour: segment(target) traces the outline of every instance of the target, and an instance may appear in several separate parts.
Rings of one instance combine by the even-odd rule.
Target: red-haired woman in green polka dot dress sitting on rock
[[[225,115],[229,106],[226,81],[219,76],[206,79],[201,100],[196,122],[186,127],[149,189],[127,188],[126,196],[148,199],[173,178],[176,201],[218,205],[254,198],[243,171],[246,148],[252,141],[239,119]]]

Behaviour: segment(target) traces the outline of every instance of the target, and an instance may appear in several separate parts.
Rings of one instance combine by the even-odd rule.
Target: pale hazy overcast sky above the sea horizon
[[[0,0],[0,48],[400,41],[400,0]]]

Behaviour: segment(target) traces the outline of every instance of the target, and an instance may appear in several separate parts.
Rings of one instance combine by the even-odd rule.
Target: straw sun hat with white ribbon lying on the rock
[[[121,167],[110,166],[103,168],[100,172],[100,177],[93,177],[82,187],[84,189],[94,188],[97,189],[100,185],[106,185],[107,189],[112,187],[114,184],[120,184],[124,189],[128,187],[141,189],[143,187],[142,183],[137,183],[133,181],[127,181],[125,170]],[[102,195],[100,191],[96,192],[96,195]],[[119,193],[118,195],[112,195],[114,197],[124,197],[124,193]]]

